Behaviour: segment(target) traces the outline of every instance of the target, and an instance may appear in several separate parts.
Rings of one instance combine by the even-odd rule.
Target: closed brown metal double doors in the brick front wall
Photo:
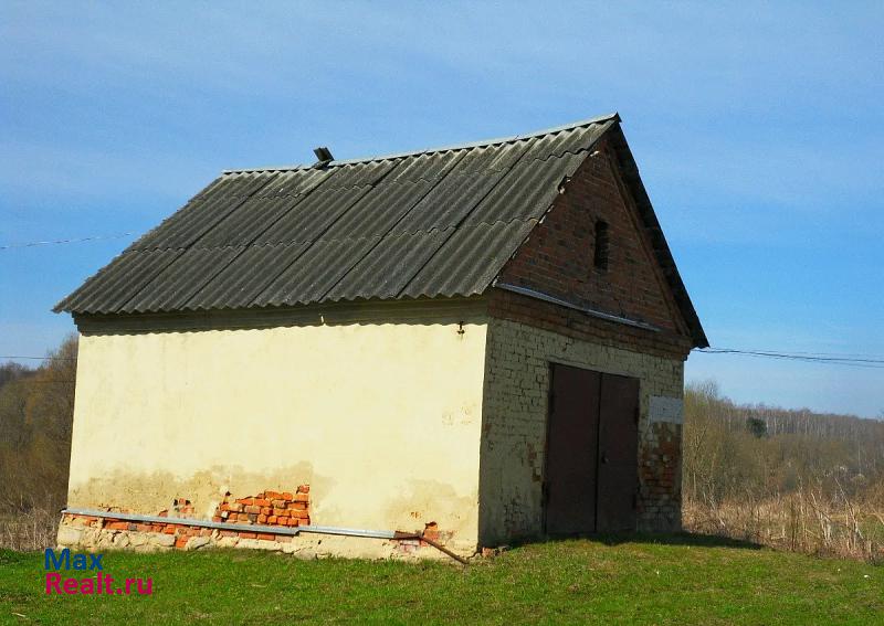
[[[639,379],[558,363],[550,375],[546,533],[635,530]]]

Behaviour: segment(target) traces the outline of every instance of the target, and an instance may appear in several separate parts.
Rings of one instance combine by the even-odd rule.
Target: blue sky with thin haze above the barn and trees
[[[224,168],[620,112],[713,346],[884,356],[881,2],[4,2],[0,245],[140,234]],[[0,251],[0,356],[133,236]],[[884,370],[692,354],[864,416]]]

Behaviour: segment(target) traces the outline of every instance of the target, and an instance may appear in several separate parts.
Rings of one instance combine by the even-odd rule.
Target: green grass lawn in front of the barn
[[[0,551],[0,623],[884,624],[884,567],[688,537],[533,544],[466,569],[253,551],[107,552],[151,596],[46,596]],[[19,615],[15,615],[19,614]]]

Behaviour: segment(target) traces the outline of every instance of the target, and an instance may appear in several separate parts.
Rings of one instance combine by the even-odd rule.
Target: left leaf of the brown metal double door
[[[554,364],[551,376],[544,484],[546,532],[594,532],[601,374]]]

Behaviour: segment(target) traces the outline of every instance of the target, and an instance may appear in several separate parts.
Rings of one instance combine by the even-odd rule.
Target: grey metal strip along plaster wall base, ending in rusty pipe
[[[93,509],[77,509],[77,508],[69,508],[62,509],[62,514],[73,514],[73,516],[88,516],[93,518],[102,518],[102,519],[113,519],[113,520],[123,520],[123,521],[131,521],[131,522],[149,522],[149,523],[169,523],[169,524],[181,524],[181,526],[192,526],[197,528],[211,528],[218,530],[232,530],[234,532],[263,532],[267,534],[281,534],[285,537],[297,537],[302,532],[307,533],[317,533],[317,534],[336,534],[340,537],[362,537],[366,539],[391,539],[391,540],[402,540],[402,539],[417,539],[429,543],[443,554],[451,556],[462,565],[466,565],[467,561],[439,543],[438,541],[424,537],[422,532],[402,532],[399,530],[369,530],[369,529],[361,529],[361,528],[345,528],[345,527],[336,527],[336,526],[298,526],[293,528],[281,528],[276,526],[265,526],[265,524],[241,524],[241,523],[229,523],[229,522],[214,522],[210,520],[196,520],[190,518],[169,518],[169,517],[161,517],[161,516],[140,516],[134,513],[117,513],[113,511],[96,511]]]

